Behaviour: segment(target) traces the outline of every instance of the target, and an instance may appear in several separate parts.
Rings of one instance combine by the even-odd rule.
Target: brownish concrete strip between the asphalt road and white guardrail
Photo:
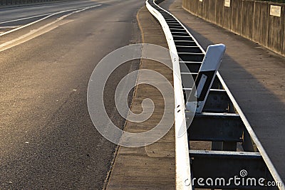
[[[153,43],[167,47],[164,33],[159,23],[150,15],[145,7],[138,12],[138,22],[142,31],[143,43]],[[170,60],[170,58],[169,58]],[[160,72],[172,83],[172,70],[152,60],[141,60],[140,69]],[[140,80],[140,75],[138,80]],[[152,78],[155,81],[155,78]],[[173,83],[172,83],[173,84]],[[160,122],[163,115],[164,99],[160,91],[151,85],[138,85],[131,110],[142,112],[141,102],[150,98],[155,104],[155,111],[149,120],[141,123],[127,122],[125,131],[145,132]],[[172,101],[173,92],[167,96]],[[174,112],[167,112],[168,120],[173,120]],[[175,189],[175,132],[174,127],[159,141],[146,147],[119,147],[113,168],[105,189]]]

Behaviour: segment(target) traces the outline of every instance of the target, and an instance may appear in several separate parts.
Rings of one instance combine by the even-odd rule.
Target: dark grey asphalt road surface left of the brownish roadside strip
[[[0,189],[103,187],[116,146],[90,120],[88,80],[103,56],[140,42],[135,16],[144,1],[84,2],[1,9],[1,21],[9,21],[102,4],[0,49]],[[9,43],[57,19],[1,36],[0,41]],[[120,127],[125,121],[114,111],[113,91],[135,68],[135,61],[123,65],[105,87],[107,111]]]

